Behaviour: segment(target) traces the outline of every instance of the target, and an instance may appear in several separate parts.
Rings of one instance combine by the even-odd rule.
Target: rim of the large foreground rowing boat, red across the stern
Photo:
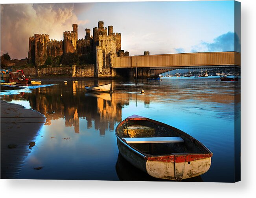
[[[125,122],[127,122],[127,120],[145,120],[145,121],[153,122],[155,124],[162,125],[162,126],[164,126],[166,128],[172,129],[173,131],[175,131],[175,132],[177,132],[179,134],[182,134],[182,135],[186,136],[186,138],[189,138],[190,140],[192,140],[192,142],[194,144],[200,145],[201,147],[203,147],[203,149],[205,151],[207,151],[207,153],[186,153],[186,154],[182,154],[182,153],[179,154],[179,153],[177,153],[177,154],[161,154],[161,155],[151,155],[151,154],[143,153],[142,151],[136,149],[132,145],[130,145],[127,142],[125,142],[125,140],[123,140],[123,138],[121,138],[119,136],[119,134],[117,133],[117,130],[119,129],[119,127],[121,125],[123,125]],[[122,142],[123,145],[128,147],[130,150],[135,151],[135,153],[137,153],[140,156],[142,156],[145,160],[153,160],[153,161],[155,161],[154,158],[158,158],[159,159],[158,161],[172,161],[171,159],[169,159],[169,160],[165,160],[165,159],[168,158],[168,157],[172,157],[172,156],[196,156],[196,155],[201,155],[202,156],[201,159],[204,159],[204,158],[212,157],[212,155],[213,155],[213,153],[206,146],[204,146],[201,142],[199,142],[197,139],[193,138],[189,134],[185,133],[184,131],[181,131],[180,129],[172,127],[171,125],[167,125],[167,124],[164,124],[162,122],[158,122],[157,120],[152,120],[150,118],[145,118],[145,117],[142,117],[142,116],[140,116],[140,117],[132,117],[132,116],[130,116],[128,118],[125,118],[122,122],[120,122],[117,125],[116,130],[115,130],[115,134],[116,134],[116,137],[118,138],[118,140],[120,140],[120,142]],[[190,161],[192,161],[192,160],[190,160]]]

